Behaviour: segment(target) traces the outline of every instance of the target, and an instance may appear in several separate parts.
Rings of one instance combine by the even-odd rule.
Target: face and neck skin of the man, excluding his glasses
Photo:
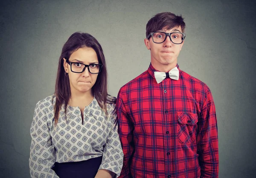
[[[175,27],[172,29],[166,29],[163,28],[162,30],[159,30],[160,32],[182,32],[181,27]],[[181,44],[174,44],[170,40],[169,36],[166,37],[166,40],[163,43],[154,43],[152,40],[152,37],[149,39],[145,39],[145,45],[147,49],[150,49],[151,53],[151,64],[154,66],[157,70],[163,70],[166,67],[167,68],[174,68],[177,64],[177,57],[180,54],[180,50],[183,46],[183,43]],[[162,71],[162,72],[168,72],[168,71]]]

